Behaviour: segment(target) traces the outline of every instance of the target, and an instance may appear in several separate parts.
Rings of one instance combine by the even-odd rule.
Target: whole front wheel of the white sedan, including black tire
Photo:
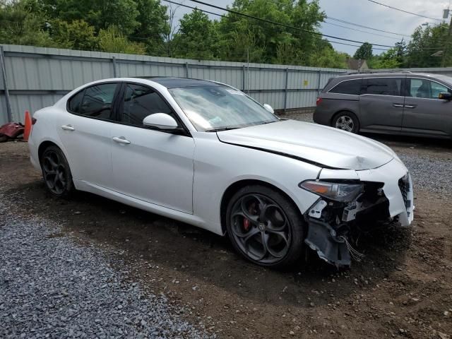
[[[226,227],[234,249],[260,266],[285,268],[302,254],[301,213],[287,196],[267,186],[237,191],[227,206]]]

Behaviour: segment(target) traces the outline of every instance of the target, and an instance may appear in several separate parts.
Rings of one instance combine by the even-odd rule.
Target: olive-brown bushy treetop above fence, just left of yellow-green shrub
[[[73,20],[71,23],[63,20],[52,20],[50,23],[51,37],[60,48],[95,50],[97,37],[95,28],[85,20]]]

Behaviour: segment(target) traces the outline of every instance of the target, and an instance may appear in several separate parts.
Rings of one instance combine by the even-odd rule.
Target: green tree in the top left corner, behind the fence
[[[0,2],[0,43],[55,47],[37,1]]]

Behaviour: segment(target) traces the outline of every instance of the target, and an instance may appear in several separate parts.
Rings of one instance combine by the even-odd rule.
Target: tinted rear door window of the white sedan
[[[86,88],[78,113],[87,117],[112,119],[112,103],[116,86],[116,83],[104,83]]]

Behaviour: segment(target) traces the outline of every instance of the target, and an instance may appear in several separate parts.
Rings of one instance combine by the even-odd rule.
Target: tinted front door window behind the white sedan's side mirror
[[[166,102],[152,88],[127,84],[121,121],[143,126],[143,119],[154,113],[167,113],[174,117]]]

